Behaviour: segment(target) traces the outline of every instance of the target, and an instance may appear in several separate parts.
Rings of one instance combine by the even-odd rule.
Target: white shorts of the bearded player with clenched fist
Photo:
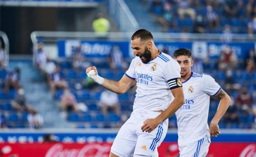
[[[142,132],[146,119],[160,115],[155,111],[133,111],[130,118],[120,128],[111,147],[111,152],[119,157],[158,157],[157,148],[164,140],[168,119],[160,123],[151,133]]]

